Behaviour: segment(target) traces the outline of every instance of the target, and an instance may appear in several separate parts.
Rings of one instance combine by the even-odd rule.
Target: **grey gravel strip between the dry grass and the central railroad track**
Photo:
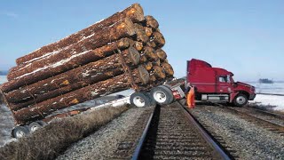
[[[142,118],[145,122],[138,122],[139,117],[150,116],[153,108],[130,108],[124,112],[122,116],[117,117],[111,123],[94,132],[90,136],[84,138],[67,148],[65,153],[60,155],[58,160],[65,159],[117,159],[130,158],[132,151],[136,147],[139,134],[142,134],[143,127],[137,133],[135,138],[130,140],[130,132],[137,126],[137,124],[146,124],[147,117]],[[131,135],[132,136],[132,135]],[[126,146],[125,156],[120,156],[120,149]],[[130,144],[130,145],[129,145]],[[124,150],[125,151],[125,150]],[[120,156],[120,157],[118,157]]]

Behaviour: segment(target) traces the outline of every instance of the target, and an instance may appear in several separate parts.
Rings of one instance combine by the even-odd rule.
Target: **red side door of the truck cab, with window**
[[[230,76],[217,76],[217,93],[233,92]]]

